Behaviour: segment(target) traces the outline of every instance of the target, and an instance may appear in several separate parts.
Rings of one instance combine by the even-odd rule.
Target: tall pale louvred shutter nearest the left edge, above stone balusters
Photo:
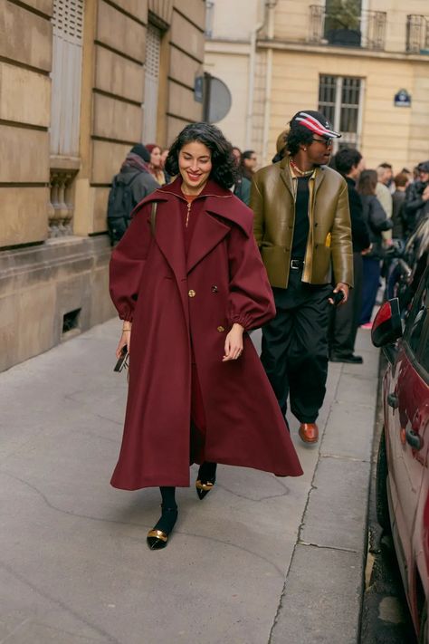
[[[79,156],[83,0],[54,0],[51,154]]]

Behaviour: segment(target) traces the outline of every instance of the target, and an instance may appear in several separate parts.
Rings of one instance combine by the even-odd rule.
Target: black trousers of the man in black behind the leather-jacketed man
[[[362,255],[353,253],[354,287],[348,293],[348,301],[341,306],[332,307],[329,330],[329,351],[338,358],[355,351],[356,334],[362,310],[363,269]]]

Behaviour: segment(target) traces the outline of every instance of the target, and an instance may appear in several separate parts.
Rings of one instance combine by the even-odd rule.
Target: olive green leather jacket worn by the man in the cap
[[[251,208],[254,236],[261,250],[270,284],[287,288],[295,224],[297,179],[289,158],[259,170],[252,182]],[[310,232],[302,282],[353,286],[348,187],[341,175],[327,166],[317,168],[309,181]]]

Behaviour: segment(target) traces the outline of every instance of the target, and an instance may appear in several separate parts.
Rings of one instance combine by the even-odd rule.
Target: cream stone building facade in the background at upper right
[[[218,125],[264,165],[291,116],[320,109],[343,133],[336,146],[358,147],[367,167],[412,168],[429,158],[429,3],[355,0],[343,24],[338,5],[207,2],[205,70],[233,95]]]

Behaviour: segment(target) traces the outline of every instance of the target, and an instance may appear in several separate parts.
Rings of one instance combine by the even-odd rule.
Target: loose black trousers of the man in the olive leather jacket
[[[289,394],[292,414],[313,423],[326,392],[332,286],[303,284],[301,277],[291,269],[288,288],[272,289],[277,315],[262,327],[261,360],[282,413]]]

